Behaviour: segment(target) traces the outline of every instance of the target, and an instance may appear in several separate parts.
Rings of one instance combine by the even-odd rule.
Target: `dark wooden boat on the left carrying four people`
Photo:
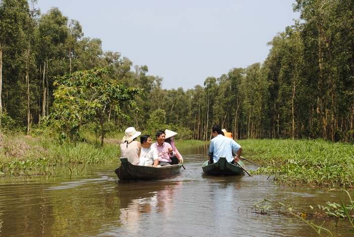
[[[120,158],[121,165],[114,172],[120,180],[150,180],[163,179],[178,174],[182,164],[149,167],[131,164],[127,158]]]

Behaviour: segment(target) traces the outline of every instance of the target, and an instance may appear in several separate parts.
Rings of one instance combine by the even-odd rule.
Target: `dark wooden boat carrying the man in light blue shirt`
[[[242,162],[239,161],[241,165]],[[233,165],[226,160],[225,157],[220,157],[217,162],[208,165],[208,161],[205,161],[202,165],[202,169],[206,174],[212,175],[241,175],[243,169],[238,165]]]

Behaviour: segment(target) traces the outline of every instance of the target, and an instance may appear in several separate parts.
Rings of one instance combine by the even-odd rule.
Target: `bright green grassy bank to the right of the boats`
[[[354,146],[321,139],[247,139],[244,157],[262,164],[254,173],[289,185],[354,187]]]

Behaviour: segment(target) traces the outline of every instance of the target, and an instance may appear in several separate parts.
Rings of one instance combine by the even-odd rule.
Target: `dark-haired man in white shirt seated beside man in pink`
[[[152,147],[152,139],[150,135],[142,135],[140,137],[142,150],[140,153],[139,165],[156,167],[159,164],[157,151]]]

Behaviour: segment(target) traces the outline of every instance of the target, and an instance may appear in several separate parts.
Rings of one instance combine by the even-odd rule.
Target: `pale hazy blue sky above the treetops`
[[[44,14],[58,7],[100,38],[104,51],[119,52],[166,89],[194,88],[209,76],[262,63],[277,33],[299,18],[294,0],[39,0]]]

